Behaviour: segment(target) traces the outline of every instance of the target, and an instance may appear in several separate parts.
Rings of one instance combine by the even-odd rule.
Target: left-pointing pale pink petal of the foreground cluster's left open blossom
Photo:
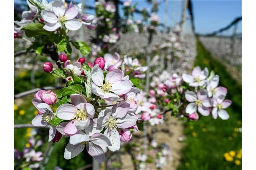
[[[74,119],[74,114],[76,113],[76,107],[71,104],[62,104],[56,110],[56,115],[63,120]]]

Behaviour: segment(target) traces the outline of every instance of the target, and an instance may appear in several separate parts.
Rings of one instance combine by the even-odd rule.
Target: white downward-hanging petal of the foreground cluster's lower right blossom
[[[112,144],[112,146],[108,146],[109,150],[114,152],[114,151],[120,149],[120,145],[121,145],[120,135],[119,135],[118,131],[115,128],[113,128],[112,130],[107,128],[104,131],[104,135],[107,136],[110,139],[110,142]]]

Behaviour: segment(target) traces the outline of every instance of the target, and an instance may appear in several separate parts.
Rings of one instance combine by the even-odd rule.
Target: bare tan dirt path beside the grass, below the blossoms
[[[169,116],[170,114],[166,114],[166,121],[163,125],[156,126],[156,132],[154,139],[157,144],[166,143],[171,149],[171,155],[173,160],[168,160],[168,165],[163,167],[162,169],[177,169],[179,165],[179,160],[181,159],[181,151],[184,146],[182,142],[178,141],[178,138],[183,136],[183,123],[176,118]],[[149,131],[152,130],[150,126]],[[139,131],[136,135],[143,136],[143,131]],[[136,142],[142,146],[143,138],[136,140]],[[150,145],[150,144],[149,144]],[[122,169],[134,169],[131,156],[129,154],[122,154]],[[153,165],[150,169],[156,169]]]

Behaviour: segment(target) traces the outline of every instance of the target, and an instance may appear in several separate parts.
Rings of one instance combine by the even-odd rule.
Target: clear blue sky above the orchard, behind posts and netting
[[[164,22],[165,2],[157,0],[159,5],[158,15],[161,22]],[[15,0],[17,2],[17,0]],[[77,1],[79,2],[79,0]],[[151,5],[145,0],[133,0],[132,4],[137,3],[137,8],[148,8],[151,10]],[[167,26],[173,26],[174,23],[180,21],[182,6],[184,1],[168,1],[168,21]],[[93,6],[94,0],[85,1],[86,5]],[[212,1],[212,0],[192,0],[195,30],[197,33],[211,33],[228,25],[233,19],[242,15],[242,1]],[[93,10],[88,10],[88,13],[94,14]],[[122,13],[120,11],[120,15]],[[139,14],[135,14],[135,19],[141,19]],[[241,22],[238,24],[237,32],[241,32]],[[233,29],[229,29],[225,34],[231,34]]]

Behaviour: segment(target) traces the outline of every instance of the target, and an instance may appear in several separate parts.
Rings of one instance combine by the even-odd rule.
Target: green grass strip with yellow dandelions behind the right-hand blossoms
[[[214,70],[220,76],[219,86],[228,89],[226,99],[233,103],[227,108],[229,120],[214,120],[211,115],[199,115],[199,121],[186,124],[186,147],[183,149],[179,169],[241,169],[241,165],[236,165],[234,161],[227,162],[223,156],[225,152],[242,148],[242,134],[234,130],[242,126],[239,122],[242,120],[241,84],[231,77],[223,64],[216,61],[199,41],[197,52],[195,66]]]

